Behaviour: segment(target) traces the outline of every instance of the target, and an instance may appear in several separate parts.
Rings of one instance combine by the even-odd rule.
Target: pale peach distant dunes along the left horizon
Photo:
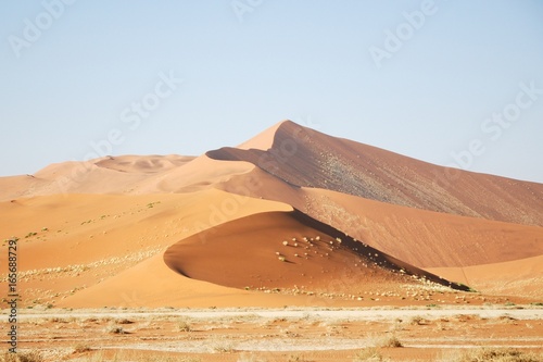
[[[0,177],[0,201],[58,194],[190,192],[227,182],[252,168],[248,162],[224,164],[206,155],[126,155],[65,162],[34,175]]]

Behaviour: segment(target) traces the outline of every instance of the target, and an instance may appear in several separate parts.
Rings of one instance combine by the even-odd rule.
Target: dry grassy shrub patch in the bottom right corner
[[[525,353],[513,348],[478,348],[445,357],[446,362],[542,362],[543,355]]]

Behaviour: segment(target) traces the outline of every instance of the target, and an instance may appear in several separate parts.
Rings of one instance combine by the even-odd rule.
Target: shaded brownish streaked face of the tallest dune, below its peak
[[[543,226],[543,185],[432,165],[283,122],[270,149],[222,148],[207,157],[247,161],[295,187],[465,216]]]

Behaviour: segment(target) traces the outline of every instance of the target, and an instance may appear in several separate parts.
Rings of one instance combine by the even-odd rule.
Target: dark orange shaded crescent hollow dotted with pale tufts
[[[175,272],[235,288],[291,288],[362,294],[419,284],[418,276],[465,287],[391,258],[295,210],[252,214],[169,247]]]

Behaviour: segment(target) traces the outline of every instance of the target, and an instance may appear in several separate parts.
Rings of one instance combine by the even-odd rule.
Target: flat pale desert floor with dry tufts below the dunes
[[[543,361],[534,304],[29,309],[18,333],[20,352],[46,361],[460,361],[501,348]]]

